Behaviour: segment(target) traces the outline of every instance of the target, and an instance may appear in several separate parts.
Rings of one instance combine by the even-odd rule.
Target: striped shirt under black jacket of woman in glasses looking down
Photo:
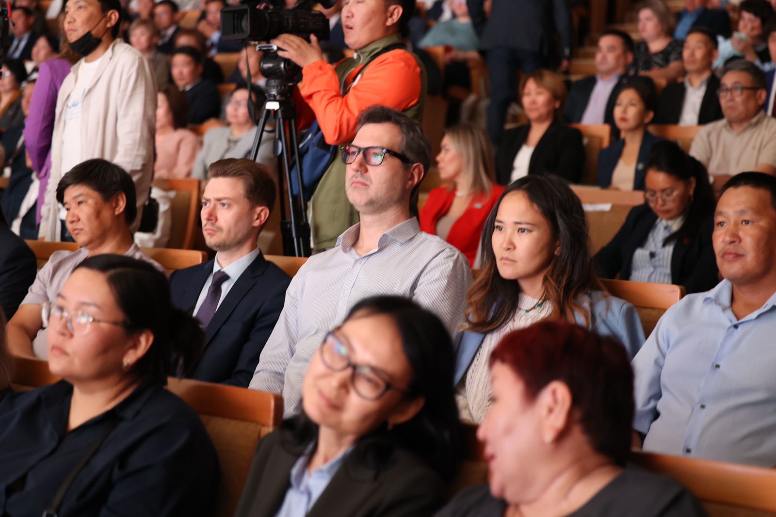
[[[672,220],[657,218],[643,246],[633,252],[629,280],[633,282],[671,283],[671,255],[676,240],[663,245],[666,238],[681,228],[684,215]]]

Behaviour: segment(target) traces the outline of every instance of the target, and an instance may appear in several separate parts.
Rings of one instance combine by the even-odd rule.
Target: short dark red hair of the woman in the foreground
[[[633,370],[625,347],[564,320],[511,332],[490,354],[525,384],[534,400],[553,380],[566,384],[579,425],[598,453],[624,466],[631,446]]]

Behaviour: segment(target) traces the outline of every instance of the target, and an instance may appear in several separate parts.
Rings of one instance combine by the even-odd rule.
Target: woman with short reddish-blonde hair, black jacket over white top
[[[530,174],[555,174],[578,183],[584,168],[579,130],[566,127],[559,113],[566,100],[563,78],[547,71],[528,74],[521,103],[528,123],[504,133],[496,154],[496,182],[507,186]]]

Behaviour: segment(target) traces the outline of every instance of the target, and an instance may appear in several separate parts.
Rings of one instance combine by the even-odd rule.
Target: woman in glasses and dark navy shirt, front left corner
[[[43,317],[63,380],[0,401],[0,515],[214,515],[215,449],[165,390],[204,335],[172,307],[165,275],[126,256],[86,259]]]

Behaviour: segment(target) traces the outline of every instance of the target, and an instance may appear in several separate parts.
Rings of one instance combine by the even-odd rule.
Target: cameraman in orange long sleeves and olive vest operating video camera
[[[375,104],[422,120],[425,71],[402,44],[414,9],[415,0],[345,0],[342,29],[345,43],[355,49],[355,55],[335,66],[327,64],[315,36],[310,37],[310,43],[290,34],[271,41],[282,49],[280,57],[302,68],[299,92],[303,103],[298,103],[297,118],[316,119],[327,144],[350,143],[359,113]],[[335,159],[324,173],[310,203],[316,251],[333,248],[338,236],[359,222],[359,213],[345,196],[345,164],[341,160]]]

